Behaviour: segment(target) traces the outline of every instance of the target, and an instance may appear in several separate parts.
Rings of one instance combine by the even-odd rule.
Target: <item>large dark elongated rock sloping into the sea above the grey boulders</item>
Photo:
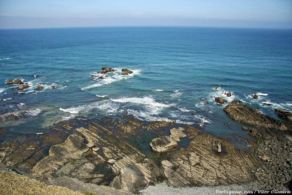
[[[266,116],[255,108],[244,105],[242,101],[232,101],[224,109],[225,113],[237,122],[261,128],[288,130],[289,127],[279,120]]]

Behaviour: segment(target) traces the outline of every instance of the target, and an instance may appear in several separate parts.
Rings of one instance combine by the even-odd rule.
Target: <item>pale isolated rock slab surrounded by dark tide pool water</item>
[[[183,133],[184,129],[182,127],[170,130],[170,136],[163,136],[152,139],[150,146],[152,150],[156,152],[168,152],[173,147],[178,145],[180,138],[186,137],[187,135]]]

